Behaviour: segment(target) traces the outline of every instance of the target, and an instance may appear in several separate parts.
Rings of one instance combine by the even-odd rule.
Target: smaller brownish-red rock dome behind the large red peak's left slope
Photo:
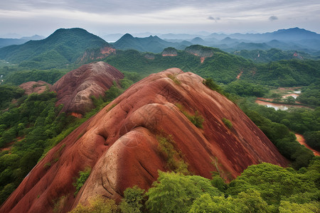
[[[68,72],[50,90],[57,92],[56,105],[63,104],[62,111],[83,115],[94,107],[92,96],[103,96],[114,81],[119,83],[123,77],[106,62],[92,62]]]

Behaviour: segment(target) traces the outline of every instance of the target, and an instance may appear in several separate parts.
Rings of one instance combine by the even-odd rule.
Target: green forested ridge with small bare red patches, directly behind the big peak
[[[164,56],[166,54],[117,50],[117,55],[107,57],[104,61],[122,72],[138,72],[142,75],[178,67],[201,77],[212,77],[223,84],[239,78],[272,86],[294,87],[309,85],[320,77],[320,60],[279,60],[256,64],[238,55],[201,45],[192,45],[183,51],[176,50],[176,53],[175,56]]]

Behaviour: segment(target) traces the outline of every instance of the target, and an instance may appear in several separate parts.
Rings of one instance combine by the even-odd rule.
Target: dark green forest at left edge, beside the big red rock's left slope
[[[55,108],[55,94],[31,94],[20,107],[0,114],[0,147],[16,141],[10,151],[0,153],[0,202],[18,186],[50,146],[67,119]]]

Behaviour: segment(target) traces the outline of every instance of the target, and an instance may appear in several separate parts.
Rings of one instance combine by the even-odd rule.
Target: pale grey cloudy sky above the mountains
[[[320,33],[319,0],[0,0],[2,38],[48,36],[58,28],[111,33]],[[18,35],[16,35],[18,37]]]

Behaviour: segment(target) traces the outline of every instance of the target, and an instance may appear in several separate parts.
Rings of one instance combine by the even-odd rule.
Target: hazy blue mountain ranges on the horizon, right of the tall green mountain
[[[114,37],[112,37],[114,36]],[[116,38],[119,34],[112,34]],[[125,34],[119,38],[114,47],[119,50],[134,49],[142,52],[161,53],[167,47],[183,50],[189,45],[205,45],[220,48],[230,53],[238,50],[299,50],[319,55],[320,35],[302,28],[289,28],[273,33],[212,33],[210,35],[192,34],[157,34],[146,38],[137,38]]]

